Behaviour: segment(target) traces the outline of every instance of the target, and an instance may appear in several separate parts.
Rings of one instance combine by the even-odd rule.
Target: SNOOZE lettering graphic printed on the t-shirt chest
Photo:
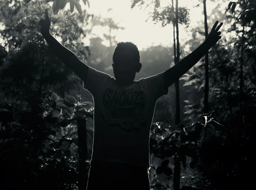
[[[109,127],[119,126],[124,131],[139,131],[145,126],[146,93],[144,91],[118,91],[108,88],[103,96],[103,117]]]

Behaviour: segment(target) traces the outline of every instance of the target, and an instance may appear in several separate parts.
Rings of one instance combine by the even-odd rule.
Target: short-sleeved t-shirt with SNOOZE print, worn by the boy
[[[121,85],[89,67],[83,85],[94,101],[90,164],[98,160],[149,168],[149,135],[156,101],[168,93],[164,72]]]

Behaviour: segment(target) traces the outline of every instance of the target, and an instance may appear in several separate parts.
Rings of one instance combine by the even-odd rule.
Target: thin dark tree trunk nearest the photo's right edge
[[[245,4],[245,0],[243,0],[243,4]],[[240,84],[239,84],[239,88],[240,88],[240,101],[239,101],[239,109],[240,111],[243,108],[242,102],[243,102],[243,65],[244,65],[244,34],[245,34],[245,21],[243,19],[243,34],[242,34],[242,47],[241,47],[241,62],[240,62]]]

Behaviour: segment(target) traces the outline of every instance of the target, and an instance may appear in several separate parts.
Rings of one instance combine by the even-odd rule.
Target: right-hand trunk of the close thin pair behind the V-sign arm
[[[179,62],[179,26],[178,26],[178,0],[176,0],[175,8],[175,25],[176,25],[176,39],[177,39],[177,57],[175,64]],[[180,104],[179,104],[179,79],[175,81],[175,98],[176,98],[176,112],[175,112],[175,125],[180,123]]]

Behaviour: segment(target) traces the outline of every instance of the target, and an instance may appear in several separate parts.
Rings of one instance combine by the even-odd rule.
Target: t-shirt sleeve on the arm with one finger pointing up
[[[88,67],[87,79],[83,81],[83,88],[87,89],[94,96],[104,87],[109,78],[110,75]]]

